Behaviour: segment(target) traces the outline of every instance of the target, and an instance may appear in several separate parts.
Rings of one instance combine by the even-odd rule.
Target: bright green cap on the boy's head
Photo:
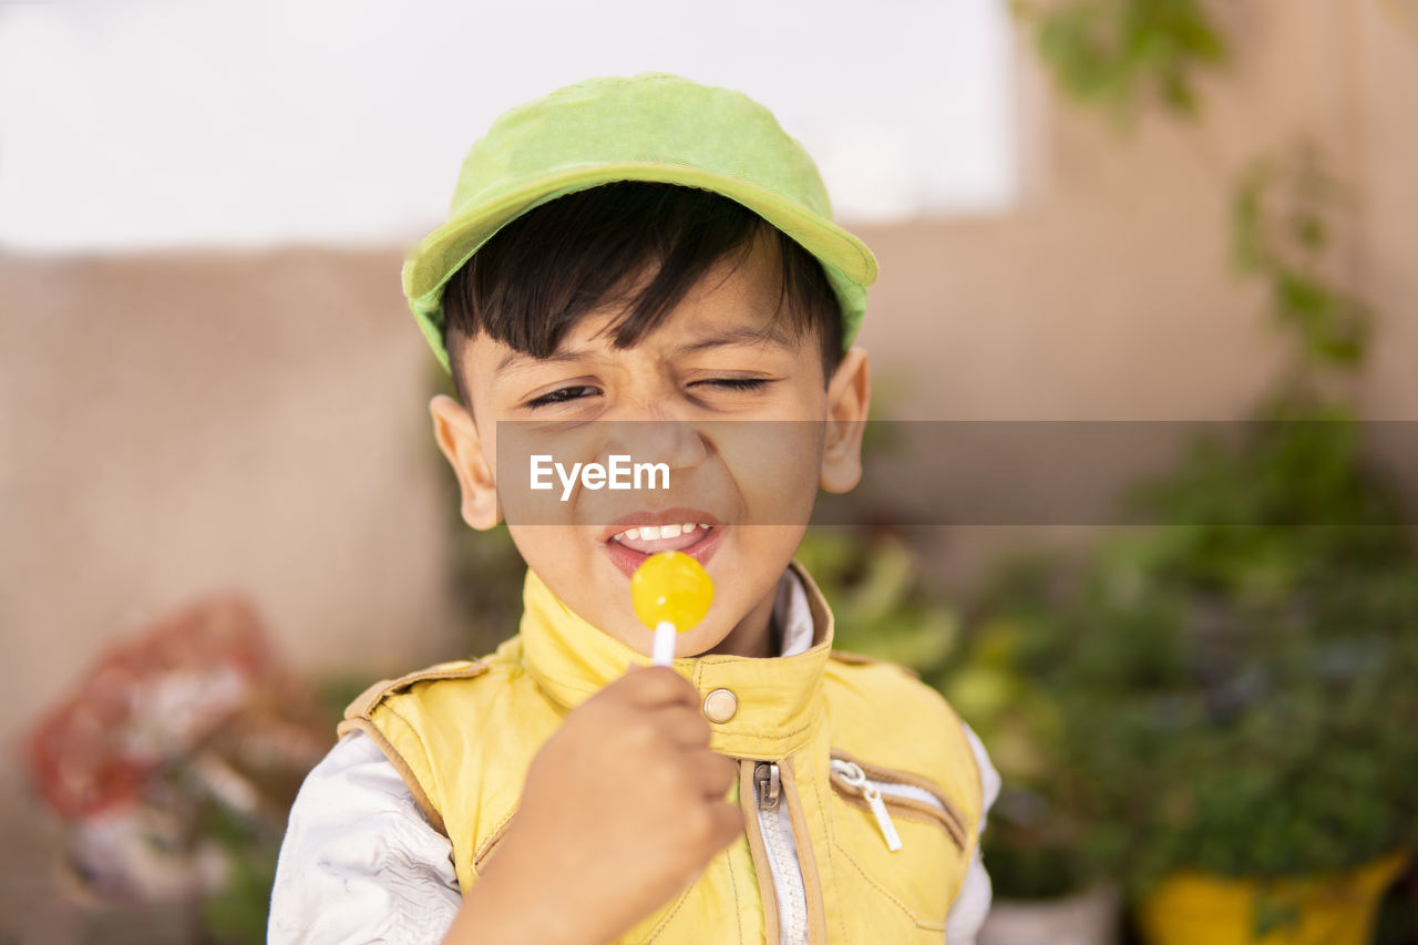
[[[747,95],[678,75],[603,77],[498,118],[468,152],[448,221],[404,262],[404,295],[442,366],[442,289],[519,216],[576,190],[654,180],[713,190],[749,207],[822,262],[856,336],[876,257],[832,223],[813,159]]]

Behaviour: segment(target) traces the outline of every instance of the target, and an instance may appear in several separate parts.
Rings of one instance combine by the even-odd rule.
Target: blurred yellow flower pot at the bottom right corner
[[[1407,863],[1398,850],[1295,880],[1178,873],[1143,900],[1139,921],[1150,945],[1368,945],[1384,890]]]

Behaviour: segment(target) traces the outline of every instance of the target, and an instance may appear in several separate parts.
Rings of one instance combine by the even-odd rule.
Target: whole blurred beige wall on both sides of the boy
[[[1347,275],[1383,312],[1361,397],[1418,417],[1418,26],[1402,3],[1217,4],[1235,64],[1202,126],[1120,140],[1024,54],[1027,193],[988,219],[862,228],[862,343],[898,417],[1224,419],[1282,352],[1225,270],[1227,184],[1309,131],[1360,196]],[[1408,4],[1411,9],[1411,4]],[[109,639],[250,592],[298,664],[390,671],[455,646],[430,359],[398,251],[0,257],[0,660],[10,742]],[[933,535],[964,582],[1010,529]]]

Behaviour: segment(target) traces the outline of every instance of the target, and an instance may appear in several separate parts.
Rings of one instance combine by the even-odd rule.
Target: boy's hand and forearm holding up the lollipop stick
[[[445,941],[605,942],[668,902],[743,830],[725,800],[737,765],[709,734],[699,694],[666,667],[573,709]]]

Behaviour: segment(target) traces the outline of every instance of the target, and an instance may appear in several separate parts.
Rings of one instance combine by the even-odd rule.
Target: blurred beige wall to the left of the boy
[[[442,651],[427,349],[401,304],[387,251],[0,260],[18,705],[218,589],[250,593],[306,667]]]

